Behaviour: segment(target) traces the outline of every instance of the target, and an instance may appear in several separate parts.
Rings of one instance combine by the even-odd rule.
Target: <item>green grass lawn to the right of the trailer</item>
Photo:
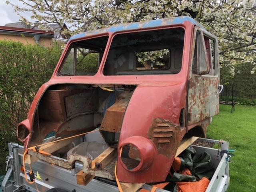
[[[229,142],[229,148],[235,149],[230,162],[230,186],[228,192],[256,191],[256,107],[220,105],[220,113],[213,118],[207,130],[212,139]]]

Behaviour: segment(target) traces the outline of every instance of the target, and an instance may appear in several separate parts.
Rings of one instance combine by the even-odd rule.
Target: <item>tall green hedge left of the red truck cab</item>
[[[0,173],[8,154],[8,142],[17,142],[16,126],[26,118],[40,86],[48,81],[61,55],[52,48],[0,41]]]

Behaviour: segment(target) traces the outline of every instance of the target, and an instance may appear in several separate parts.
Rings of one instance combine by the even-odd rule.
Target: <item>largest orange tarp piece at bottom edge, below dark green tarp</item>
[[[203,177],[200,181],[196,182],[177,182],[179,192],[205,192],[210,180]]]

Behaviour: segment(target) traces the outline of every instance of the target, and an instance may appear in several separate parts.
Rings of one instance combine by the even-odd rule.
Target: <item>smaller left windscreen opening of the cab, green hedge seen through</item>
[[[98,72],[108,37],[75,42],[62,62],[59,76],[93,76]]]

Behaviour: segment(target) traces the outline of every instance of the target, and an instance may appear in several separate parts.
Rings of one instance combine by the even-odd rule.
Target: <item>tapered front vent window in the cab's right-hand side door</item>
[[[196,32],[194,55],[192,60],[193,74],[208,74],[210,70],[210,57],[207,55],[206,44],[203,33]]]

